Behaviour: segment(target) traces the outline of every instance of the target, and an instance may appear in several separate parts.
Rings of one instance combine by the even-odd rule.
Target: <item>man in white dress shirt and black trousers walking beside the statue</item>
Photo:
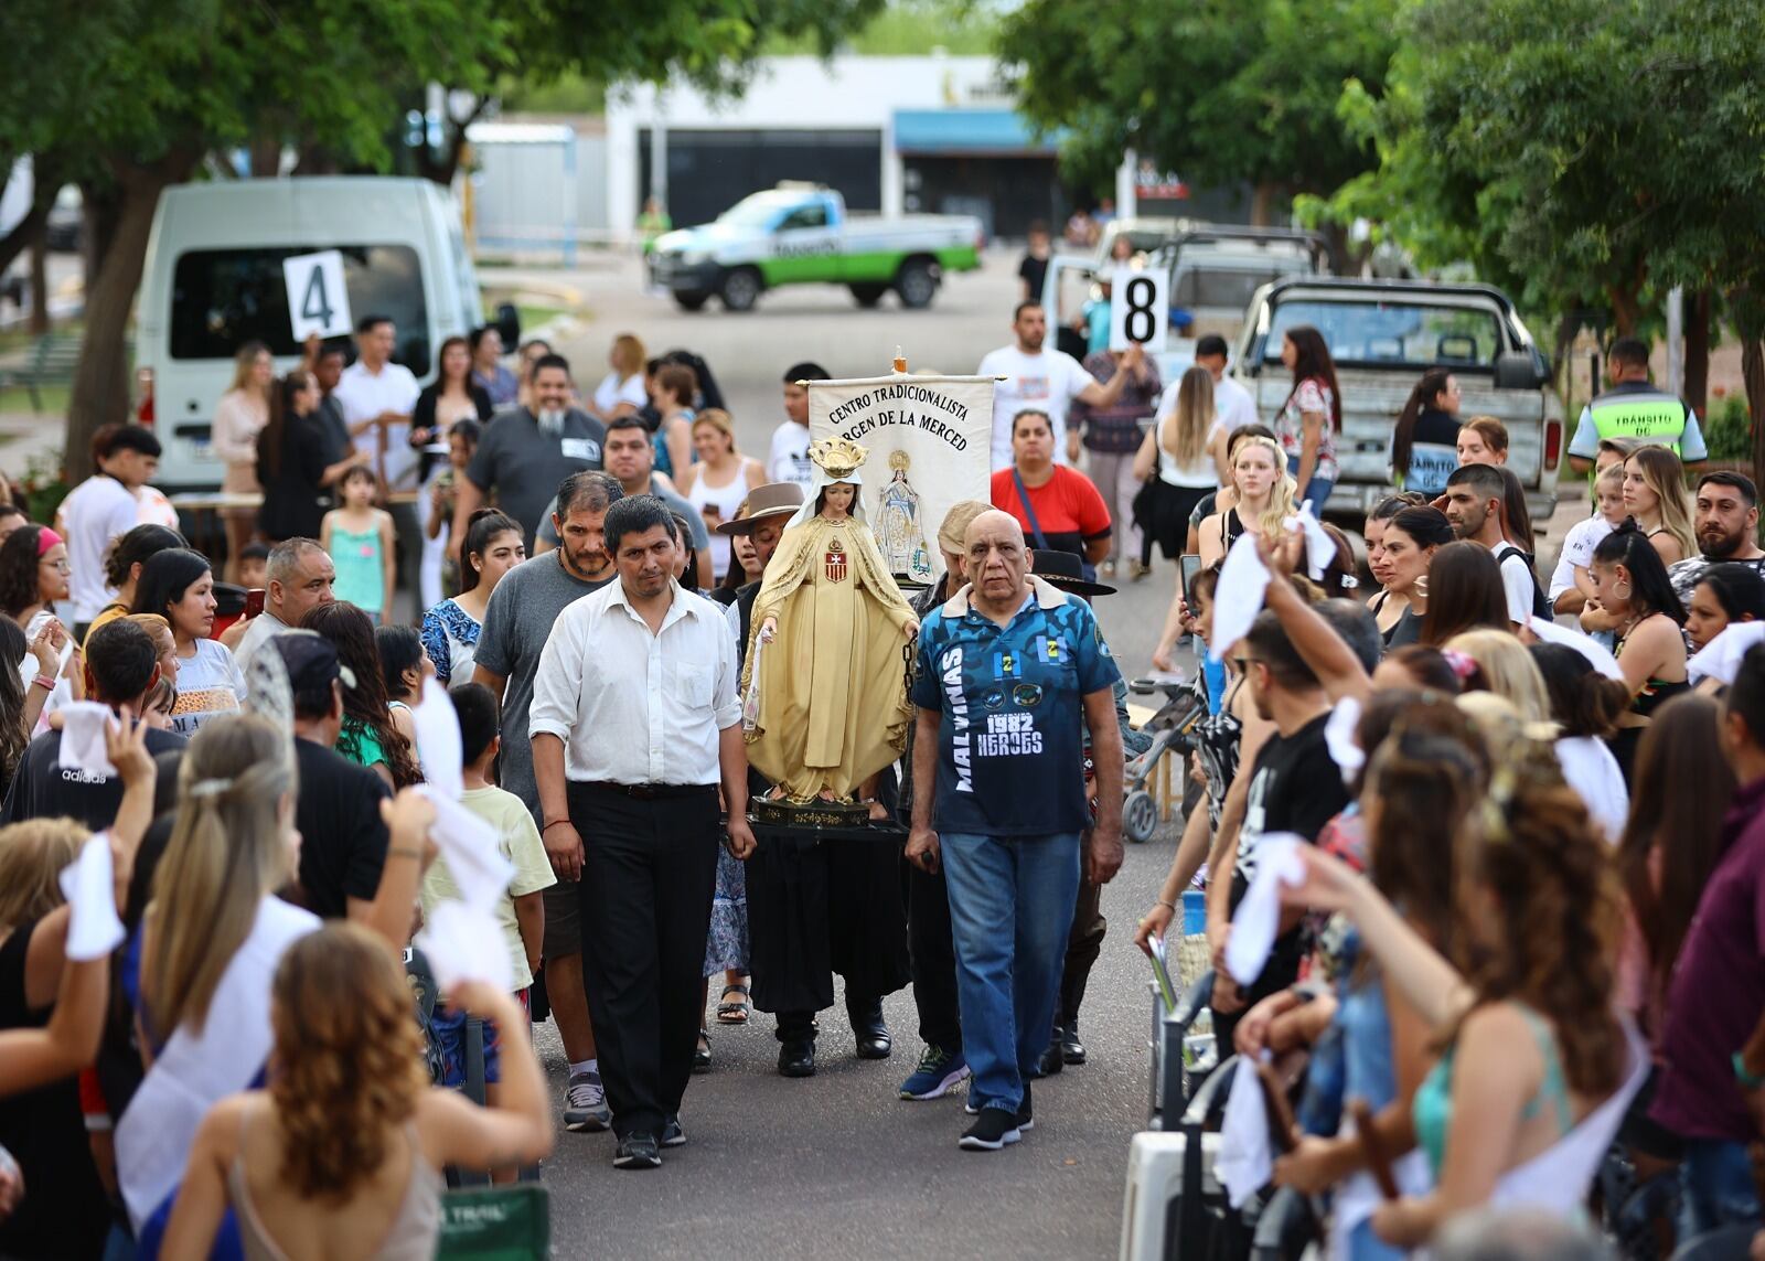
[[[618,581],[558,618],[528,731],[547,853],[577,880],[582,982],[620,1139],[653,1169],[685,1143],[680,1104],[702,1017],[717,883],[718,782],[729,851],[747,858],[740,662],[711,600],[672,578],[674,525],[653,495],[607,509]]]

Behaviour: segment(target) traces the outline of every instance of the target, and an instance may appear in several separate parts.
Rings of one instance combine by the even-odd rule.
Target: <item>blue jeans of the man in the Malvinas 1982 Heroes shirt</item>
[[[1078,899],[1078,834],[941,835],[957,947],[962,1051],[976,1107],[1024,1106],[1054,1033],[1066,936]]]

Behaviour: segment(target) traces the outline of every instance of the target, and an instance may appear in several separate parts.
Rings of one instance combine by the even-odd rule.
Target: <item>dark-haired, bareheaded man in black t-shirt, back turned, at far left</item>
[[[159,650],[146,630],[118,618],[86,639],[86,668],[94,701],[141,714],[145,694],[159,682]],[[182,752],[184,745],[184,736],[171,731],[146,733],[146,751],[154,756]],[[44,731],[18,759],[5,805],[0,805],[0,825],[65,816],[99,832],[116,821],[118,805],[122,779],[62,766],[62,733]]]

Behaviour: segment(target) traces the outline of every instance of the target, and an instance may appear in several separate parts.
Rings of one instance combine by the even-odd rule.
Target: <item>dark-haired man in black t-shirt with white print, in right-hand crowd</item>
[[[1257,849],[1262,837],[1292,832],[1315,841],[1324,825],[1348,804],[1348,789],[1324,740],[1324,724],[1331,712],[1329,696],[1287,638],[1280,618],[1269,609],[1258,613],[1250,634],[1234,652],[1257,714],[1274,722],[1276,735],[1257,751],[1257,761],[1248,772],[1250,793],[1237,837],[1223,835],[1223,844],[1216,846],[1209,860],[1213,872],[1228,867],[1232,871],[1230,881],[1214,880],[1207,888],[1207,938],[1214,945],[1216,961],[1225,948],[1232,913],[1257,874]],[[1227,1047],[1227,1054],[1237,1017],[1257,1000],[1285,989],[1297,978],[1303,954],[1301,918],[1303,911],[1283,911],[1274,950],[1262,975],[1248,989],[1239,991],[1223,970],[1218,971],[1214,1037]]]

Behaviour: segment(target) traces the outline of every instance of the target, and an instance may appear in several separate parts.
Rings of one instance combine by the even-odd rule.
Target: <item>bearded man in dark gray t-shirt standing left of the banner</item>
[[[526,533],[545,516],[558,482],[570,473],[600,468],[607,427],[570,406],[570,366],[547,355],[533,369],[533,406],[498,413],[484,427],[466,475],[457,479],[454,537],[466,537],[471,514],[496,491],[496,502]]]

